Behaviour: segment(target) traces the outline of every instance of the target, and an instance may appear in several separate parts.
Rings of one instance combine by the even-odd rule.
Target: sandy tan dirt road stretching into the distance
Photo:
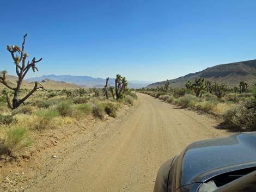
[[[216,120],[137,94],[135,108],[56,158],[28,191],[153,191],[159,166],[193,141],[227,135]],[[57,156],[58,157],[58,156]]]

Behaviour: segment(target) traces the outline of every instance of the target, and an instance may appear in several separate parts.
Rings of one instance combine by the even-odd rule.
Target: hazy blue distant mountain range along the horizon
[[[28,78],[26,80],[30,81],[30,82],[41,82],[44,79],[51,79],[51,80],[55,80],[58,82],[66,82],[66,83],[72,83],[72,84],[76,84],[76,85],[80,85],[80,86],[84,86],[84,87],[88,87],[88,88],[92,88],[92,87],[103,87],[106,84],[106,79],[103,78],[94,78],[94,77],[90,77],[90,76],[71,76],[71,75],[43,75],[41,77],[34,77],[34,78]],[[129,80],[128,80],[129,81]],[[114,78],[109,78],[108,83],[111,86],[114,86]],[[153,82],[144,82],[144,81],[139,81],[139,80],[131,80],[129,81],[129,87],[130,88],[142,88],[145,87],[147,85],[149,85],[150,83]]]

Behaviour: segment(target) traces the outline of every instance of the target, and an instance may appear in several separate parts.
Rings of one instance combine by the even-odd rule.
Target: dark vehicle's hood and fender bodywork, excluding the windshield
[[[155,183],[157,186],[161,183],[162,187],[155,187],[154,192],[197,191],[202,182],[211,177],[256,167],[256,132],[197,141],[188,145],[168,163],[161,166],[161,171],[157,174]]]

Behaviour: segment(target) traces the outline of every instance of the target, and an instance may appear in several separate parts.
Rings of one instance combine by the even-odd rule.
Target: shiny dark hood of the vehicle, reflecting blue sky
[[[203,182],[205,178],[202,175],[221,168],[235,169],[238,165],[248,164],[256,166],[256,132],[237,133],[225,138],[192,143],[179,158],[182,160],[182,185]]]

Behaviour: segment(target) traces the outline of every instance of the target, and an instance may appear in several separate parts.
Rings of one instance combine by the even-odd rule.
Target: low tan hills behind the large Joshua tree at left
[[[0,73],[1,75],[1,73]],[[11,86],[15,86],[17,81],[17,77],[7,75],[7,82]],[[51,79],[43,79],[41,82],[42,86],[44,86],[45,89],[78,89],[80,88],[79,85],[72,84],[72,83],[66,83],[66,82],[58,82]],[[0,89],[3,89],[5,86],[0,83]],[[34,87],[34,82],[28,82],[27,80],[23,80],[21,88],[23,89],[32,89]]]

